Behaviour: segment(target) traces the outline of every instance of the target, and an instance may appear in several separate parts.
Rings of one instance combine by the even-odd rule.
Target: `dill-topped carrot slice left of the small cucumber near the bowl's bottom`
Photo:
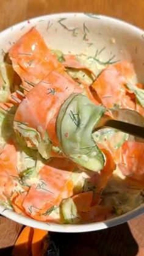
[[[39,172],[39,177],[39,183],[32,185],[29,189],[23,207],[32,218],[45,221],[49,219],[49,214],[45,212],[56,205],[59,194],[64,192],[63,189],[68,189],[65,184],[71,180],[71,172],[44,166]],[[73,191],[73,186],[71,191]]]

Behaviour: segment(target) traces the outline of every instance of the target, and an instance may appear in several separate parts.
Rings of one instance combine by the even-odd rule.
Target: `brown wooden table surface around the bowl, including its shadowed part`
[[[144,0],[0,0],[0,31],[34,16],[57,12],[101,13],[144,29]],[[21,225],[0,217],[0,255],[10,255]],[[144,215],[99,232],[52,233],[60,256],[144,256]],[[77,243],[79,242],[79,243]]]

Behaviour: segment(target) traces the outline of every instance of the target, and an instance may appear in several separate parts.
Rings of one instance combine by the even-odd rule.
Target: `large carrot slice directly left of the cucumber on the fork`
[[[55,138],[54,142],[57,142],[56,116],[59,108],[71,93],[81,91],[74,81],[52,71],[45,81],[41,81],[27,93],[16,111],[15,120],[38,130],[42,138],[47,129],[51,141]],[[27,115],[27,112],[31,115]]]

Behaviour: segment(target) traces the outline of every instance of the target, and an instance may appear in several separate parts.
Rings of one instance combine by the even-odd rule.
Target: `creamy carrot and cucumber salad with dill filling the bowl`
[[[68,28],[65,20],[57,21],[61,29],[77,37],[79,29]],[[50,36],[54,24],[43,21]],[[64,50],[62,42],[59,48],[59,40],[52,47],[43,29],[29,23],[2,50],[1,214],[13,211],[19,222],[28,219],[28,225],[43,229],[48,224],[49,230],[51,225],[93,230],[92,224],[121,218],[144,202],[144,144],[113,128],[93,131],[104,114],[112,117],[112,109],[144,116],[144,87],[128,57],[110,53],[103,59],[106,47],[89,42],[86,21],[82,42],[94,47],[95,55]]]

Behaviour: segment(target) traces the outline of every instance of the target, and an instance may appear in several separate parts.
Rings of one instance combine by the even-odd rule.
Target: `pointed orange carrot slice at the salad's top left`
[[[31,83],[40,82],[52,70],[64,70],[35,27],[10,48],[9,56],[14,70],[27,87],[31,87]]]

